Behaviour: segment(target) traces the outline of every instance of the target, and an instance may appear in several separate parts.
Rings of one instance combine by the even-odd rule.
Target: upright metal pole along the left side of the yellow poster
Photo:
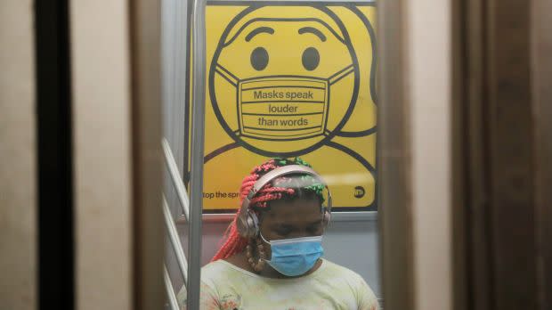
[[[190,184],[190,265],[188,265],[188,309],[199,309],[201,277],[201,222],[203,209],[203,152],[205,144],[205,0],[194,0],[192,11],[192,111]]]

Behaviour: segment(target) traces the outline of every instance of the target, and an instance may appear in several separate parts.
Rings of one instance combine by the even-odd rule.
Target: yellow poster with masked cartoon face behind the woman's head
[[[206,14],[204,212],[239,208],[252,167],[296,156],[335,211],[376,210],[374,4],[213,2]]]

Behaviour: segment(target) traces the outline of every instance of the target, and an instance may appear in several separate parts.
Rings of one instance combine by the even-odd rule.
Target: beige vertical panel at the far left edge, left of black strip
[[[0,309],[37,306],[32,2],[0,2]]]

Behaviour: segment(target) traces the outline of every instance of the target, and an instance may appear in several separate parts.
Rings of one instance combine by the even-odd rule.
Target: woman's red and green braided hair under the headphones
[[[248,196],[253,184],[255,184],[261,176],[277,167],[288,165],[311,167],[311,165],[300,158],[270,159],[264,162],[264,164],[254,167],[251,173],[246,176],[241,183],[239,189],[239,205],[241,205],[241,202]],[[255,197],[251,199],[249,208],[256,212],[256,216],[260,216],[261,212],[271,208],[271,201],[274,200],[295,200],[298,198],[316,199],[322,204],[324,202],[322,195],[324,187],[324,184],[321,184],[321,182],[312,175],[283,175],[265,184],[263,188],[256,193]],[[216,252],[215,257],[211,259],[212,262],[218,259],[231,257],[243,251],[248,245],[248,239],[239,234],[236,225],[239,212],[239,210],[236,212],[234,219],[226,229],[226,232],[224,232],[223,244]]]

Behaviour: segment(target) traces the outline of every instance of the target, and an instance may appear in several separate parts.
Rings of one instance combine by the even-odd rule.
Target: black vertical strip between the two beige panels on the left
[[[73,309],[69,2],[35,1],[39,309]]]

